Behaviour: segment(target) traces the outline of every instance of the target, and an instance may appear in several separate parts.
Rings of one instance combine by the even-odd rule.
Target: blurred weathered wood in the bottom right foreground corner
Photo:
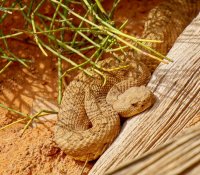
[[[189,175],[193,173],[198,175],[199,166],[200,123],[186,129],[181,136],[106,172],[106,175]]]

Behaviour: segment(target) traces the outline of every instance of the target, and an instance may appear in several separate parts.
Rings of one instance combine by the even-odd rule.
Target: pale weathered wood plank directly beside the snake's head
[[[180,133],[200,113],[200,14],[177,39],[148,87],[155,105],[127,120],[115,142],[96,162],[90,175],[101,175],[132,160]]]

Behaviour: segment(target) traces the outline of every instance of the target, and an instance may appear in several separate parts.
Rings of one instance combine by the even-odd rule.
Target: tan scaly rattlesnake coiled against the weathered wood
[[[199,7],[200,1],[163,1],[150,11],[142,38],[164,41],[163,44],[147,44],[166,54],[177,36],[197,14]],[[137,59],[127,56],[122,62],[113,58],[100,61],[99,65],[108,68],[129,65],[127,69],[106,72],[104,86],[101,77],[88,69],[93,78],[79,73],[65,89],[54,133],[55,142],[65,153],[81,161],[98,158],[120,131],[120,118],[114,109],[128,117],[153,104],[153,94],[143,85],[149,81],[150,72],[158,62],[137,54],[134,54],[134,58]],[[133,88],[129,101],[133,104],[125,105],[123,100],[127,98],[126,90],[130,87]],[[123,100],[120,99],[120,93],[124,93]],[[133,113],[130,114],[130,111]]]

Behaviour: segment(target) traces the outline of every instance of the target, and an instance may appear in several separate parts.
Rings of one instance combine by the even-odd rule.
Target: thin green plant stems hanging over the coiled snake
[[[42,54],[45,56],[53,54],[57,57],[59,104],[62,98],[63,77],[74,70],[79,69],[88,76],[92,76],[86,69],[92,67],[96,73],[102,76],[103,81],[106,81],[104,72],[114,69],[108,70],[97,64],[104,53],[120,59],[119,55],[124,55],[126,48],[130,48],[160,61],[170,60],[143,43],[144,41],[160,41],[137,39],[123,33],[122,29],[128,21],[118,28],[115,26],[113,14],[120,0],[114,0],[109,13],[105,12],[99,0],[30,0],[27,4],[16,0],[11,3],[10,7],[5,8],[6,1],[3,1],[0,7],[0,11],[2,11],[0,24],[6,20],[8,14],[17,10],[24,17],[26,25],[24,25],[24,29],[15,29],[14,33],[9,34],[4,34],[3,30],[0,30],[0,40],[4,45],[4,48],[0,48],[0,58],[6,60],[0,74],[15,61],[26,68],[32,64],[31,60],[18,58],[10,51],[7,44],[8,38],[20,39],[22,35],[32,36],[32,42],[40,48]],[[53,10],[53,14],[50,16],[42,11],[47,3]],[[66,38],[69,32],[72,37]],[[73,60],[73,55],[78,56],[81,63]],[[65,62],[71,65],[67,70],[63,70]],[[119,68],[126,68],[126,66]]]

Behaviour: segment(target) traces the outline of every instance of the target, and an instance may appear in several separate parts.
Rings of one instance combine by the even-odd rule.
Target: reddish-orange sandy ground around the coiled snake
[[[115,21],[121,24],[129,19],[126,31],[140,35],[148,11],[160,0],[122,0],[115,14]],[[104,2],[109,8],[110,2]],[[23,26],[19,14],[13,13],[0,27],[9,32]],[[57,101],[57,60],[45,57],[40,50],[23,41],[8,40],[10,50],[21,58],[31,59],[34,64],[24,68],[19,63],[12,64],[0,75],[0,103],[26,114],[30,114],[33,103],[38,98]],[[2,45],[2,43],[0,43]],[[0,67],[5,61],[0,60]],[[0,108],[0,127],[20,119],[20,115]],[[74,161],[64,154],[53,142],[55,122],[45,122],[38,127],[29,127],[22,135],[24,123],[12,125],[0,131],[0,174],[2,175],[77,175],[84,163]],[[83,174],[91,169],[94,162],[86,165]]]

